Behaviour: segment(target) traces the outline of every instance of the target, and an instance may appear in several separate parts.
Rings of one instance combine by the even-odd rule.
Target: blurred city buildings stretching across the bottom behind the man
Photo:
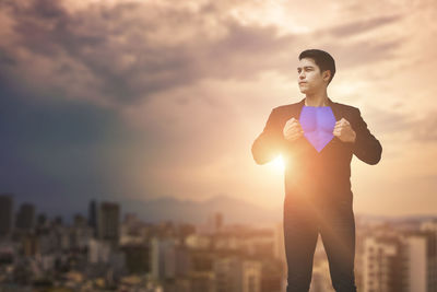
[[[23,203],[11,225],[11,198],[0,196],[0,289],[285,291],[281,222],[234,225],[214,212],[197,224],[151,224],[135,214],[121,220],[120,203],[90,201],[88,215],[73,224],[35,220],[35,206]],[[437,218],[356,224],[358,291],[437,291]],[[309,292],[333,291],[321,241],[314,268]]]

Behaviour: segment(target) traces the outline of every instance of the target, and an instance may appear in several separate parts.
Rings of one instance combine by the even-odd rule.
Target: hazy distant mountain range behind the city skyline
[[[213,198],[196,201],[190,199],[179,200],[173,197],[163,197],[151,199],[144,202],[126,202],[116,200],[96,200],[90,201],[82,206],[82,208],[72,210],[70,213],[51,212],[42,208],[38,200],[16,200],[14,194],[0,192],[0,198],[11,198],[12,211],[14,218],[19,215],[23,206],[32,206],[34,209],[34,217],[43,215],[46,219],[56,220],[61,219],[66,223],[71,224],[76,215],[90,217],[90,206],[92,203],[116,203],[120,206],[120,220],[125,217],[135,215],[143,222],[158,223],[158,222],[180,222],[189,224],[199,224],[209,220],[211,213],[223,213],[226,215],[228,224],[253,224],[257,226],[270,226],[272,224],[281,223],[282,215],[277,212],[276,208],[265,208],[258,206],[250,201],[238,200],[233,197],[215,196]],[[4,201],[2,201],[4,203]],[[139,205],[141,203],[141,205]],[[5,208],[5,206],[3,207]],[[356,220],[364,221],[387,221],[387,222],[403,222],[403,221],[420,221],[420,220],[437,220],[437,214],[410,214],[410,215],[375,215],[368,213],[356,213]],[[16,220],[16,219],[15,219]],[[15,223],[15,222],[14,222]]]

